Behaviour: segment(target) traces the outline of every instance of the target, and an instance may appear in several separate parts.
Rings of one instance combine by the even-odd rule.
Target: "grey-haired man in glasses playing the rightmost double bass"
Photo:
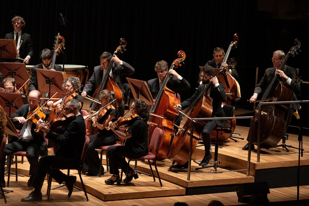
[[[278,74],[281,77],[281,79],[283,81],[285,81],[289,85],[289,87],[292,89],[292,91],[293,91],[293,96],[292,96],[293,101],[297,100],[296,96],[299,95],[300,84],[295,81],[295,78],[296,78],[295,69],[293,67],[284,65],[282,70],[279,70],[279,67],[280,67],[281,63],[283,62],[285,56],[286,56],[285,53],[281,50],[277,50],[277,51],[273,52],[273,58],[272,58],[273,67],[265,70],[263,78],[256,85],[256,87],[254,89],[254,94],[252,95],[252,97],[249,100],[250,103],[256,101],[257,96],[259,94],[261,94],[261,93],[263,94],[265,92],[265,90],[268,88],[268,86],[269,86],[270,82],[272,81],[273,77],[275,76],[275,74]],[[286,116],[287,124],[286,124],[285,130],[288,128],[288,126],[290,124],[293,111],[297,110],[297,109],[299,109],[298,103],[296,103],[296,104],[292,103],[290,105],[290,107],[288,108],[288,112],[287,112],[287,116]],[[246,144],[243,147],[243,150],[248,150],[248,148],[249,148],[249,145]],[[251,144],[251,149],[254,149],[254,144]]]

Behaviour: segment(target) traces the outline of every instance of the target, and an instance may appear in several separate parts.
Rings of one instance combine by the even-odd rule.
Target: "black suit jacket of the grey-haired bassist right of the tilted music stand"
[[[150,79],[147,82],[148,88],[150,90],[150,93],[152,95],[152,98],[156,98],[159,90],[160,90],[160,83],[159,83],[159,77]],[[187,80],[182,78],[182,80],[177,79],[175,76],[170,76],[166,83],[166,87],[170,90],[177,93],[177,90],[188,90],[190,89],[190,84]]]

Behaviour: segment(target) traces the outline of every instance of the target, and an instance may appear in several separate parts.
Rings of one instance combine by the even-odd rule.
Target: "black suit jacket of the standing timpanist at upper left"
[[[5,35],[6,39],[14,39],[14,32],[8,33]],[[20,40],[23,40],[23,43],[20,46],[19,49],[19,57],[24,59],[29,55],[31,58],[33,57],[33,44],[31,40],[30,34],[21,32]],[[17,43],[16,43],[17,44]],[[19,60],[20,62],[23,62],[23,60]]]

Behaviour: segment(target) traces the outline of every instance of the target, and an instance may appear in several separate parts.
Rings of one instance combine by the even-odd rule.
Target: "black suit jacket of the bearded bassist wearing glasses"
[[[195,93],[190,97],[189,99],[185,100],[183,103],[181,103],[181,109],[184,110],[187,108],[196,98],[197,96],[204,90],[205,85],[201,84],[198,86]],[[225,102],[227,100],[227,96],[224,92],[224,86],[222,84],[219,84],[217,87],[214,87],[214,85],[210,88],[210,94],[209,97],[213,99],[212,107],[213,112],[211,114],[211,117],[226,117],[223,109],[222,109],[222,102]],[[222,126],[224,124],[227,124],[227,120],[215,120],[218,126]]]

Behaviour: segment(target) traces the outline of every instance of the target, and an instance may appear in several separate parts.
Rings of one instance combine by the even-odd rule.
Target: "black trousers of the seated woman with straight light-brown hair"
[[[117,137],[108,136],[105,137],[102,134],[95,134],[89,137],[90,143],[87,150],[87,155],[83,164],[82,172],[88,172],[89,175],[95,176],[99,174],[100,166],[102,166],[102,162],[100,163],[100,158],[98,151],[95,148],[100,146],[108,146],[116,144]]]

